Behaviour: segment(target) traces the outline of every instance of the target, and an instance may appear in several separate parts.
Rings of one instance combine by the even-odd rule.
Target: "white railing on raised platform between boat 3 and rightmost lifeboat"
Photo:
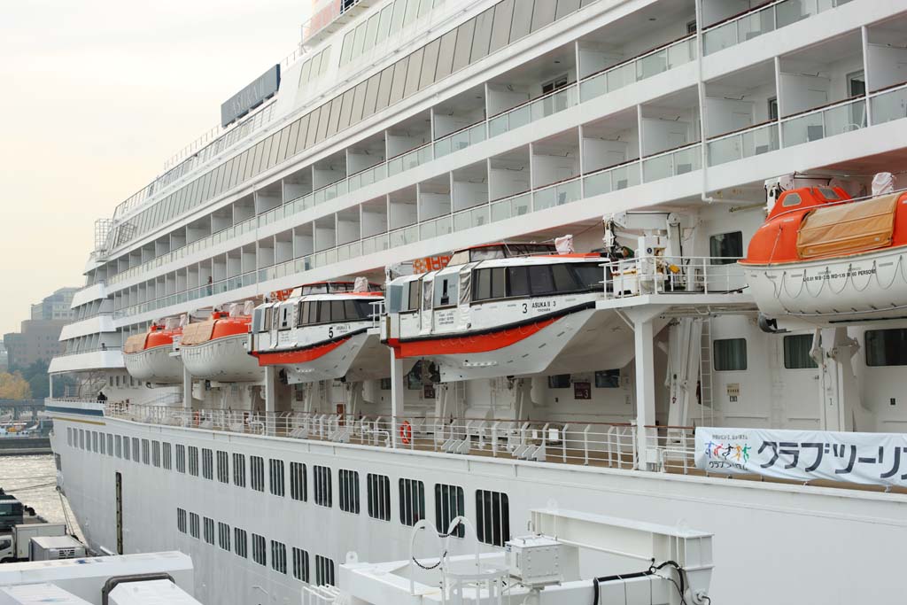
[[[738,258],[647,256],[605,264],[609,298],[647,294],[729,294],[746,288]]]

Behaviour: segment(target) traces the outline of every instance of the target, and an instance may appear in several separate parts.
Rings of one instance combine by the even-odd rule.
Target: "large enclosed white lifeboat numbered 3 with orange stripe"
[[[622,367],[631,333],[604,299],[598,254],[491,244],[387,285],[382,339],[397,358],[430,358],[442,382]],[[604,346],[602,335],[614,335]],[[609,339],[610,341],[610,339]]]

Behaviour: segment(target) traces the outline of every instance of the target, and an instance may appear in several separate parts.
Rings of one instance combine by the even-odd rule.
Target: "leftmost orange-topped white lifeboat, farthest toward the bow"
[[[171,317],[152,324],[144,334],[126,339],[123,361],[130,376],[145,383],[172,385],[182,382],[180,357],[172,355],[174,342],[182,337],[180,320]]]

